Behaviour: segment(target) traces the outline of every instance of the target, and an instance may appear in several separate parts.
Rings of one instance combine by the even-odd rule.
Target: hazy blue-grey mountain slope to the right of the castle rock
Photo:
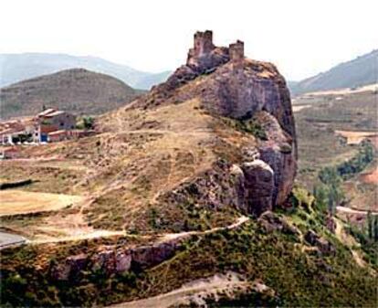
[[[354,88],[378,82],[378,49],[299,82],[289,82],[293,94]]]

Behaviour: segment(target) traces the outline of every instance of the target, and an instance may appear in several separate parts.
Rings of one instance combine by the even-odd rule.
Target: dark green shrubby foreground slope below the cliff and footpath
[[[75,280],[64,283],[52,279],[48,271],[51,264],[75,250],[91,253],[93,244],[89,241],[68,246],[49,244],[43,250],[37,246],[3,250],[2,303],[106,305],[169,292],[187,281],[234,271],[247,281],[258,280],[274,290],[274,296],[266,298],[264,305],[373,307],[377,293],[371,265],[357,265],[352,250],[325,228],[324,217],[311,201],[309,194],[297,189],[292,196],[297,206],[277,214],[298,232],[268,230],[251,219],[233,230],[195,235],[172,259],[121,275],[82,271]],[[320,251],[311,246],[303,237],[309,228],[334,250]],[[261,303],[253,302],[261,301],[255,295],[240,295],[234,303]]]

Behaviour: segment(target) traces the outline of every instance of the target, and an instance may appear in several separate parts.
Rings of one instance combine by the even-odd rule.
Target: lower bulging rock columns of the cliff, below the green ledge
[[[232,173],[237,175],[238,207],[258,217],[282,205],[289,196],[297,171],[297,154],[295,139],[273,115],[257,112],[254,119],[267,140],[259,141],[257,148],[244,149],[244,163],[234,165]]]

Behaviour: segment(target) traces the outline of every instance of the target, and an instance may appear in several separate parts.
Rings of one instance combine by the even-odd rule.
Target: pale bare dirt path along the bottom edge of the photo
[[[181,288],[161,295],[150,297],[140,301],[118,303],[111,308],[166,308],[174,304],[198,303],[205,304],[204,298],[220,292],[233,292],[234,290],[247,288],[247,281],[242,281],[236,273],[228,272],[226,275],[216,274],[207,279],[199,279],[184,284]]]

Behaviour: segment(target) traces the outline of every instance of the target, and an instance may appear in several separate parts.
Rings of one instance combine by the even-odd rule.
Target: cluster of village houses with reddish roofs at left
[[[20,145],[57,143],[93,134],[93,119],[81,121],[78,125],[76,115],[47,108],[32,117],[0,122],[0,159],[18,158]]]

